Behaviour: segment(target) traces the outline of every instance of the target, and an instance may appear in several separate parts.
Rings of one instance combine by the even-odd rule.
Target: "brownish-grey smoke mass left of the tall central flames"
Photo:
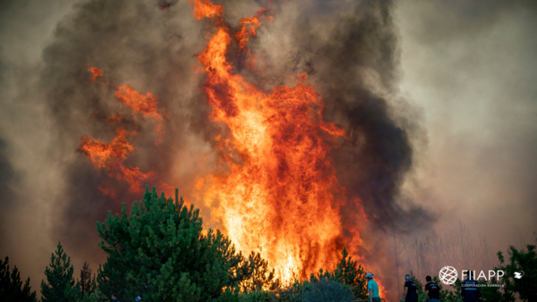
[[[102,196],[99,185],[111,183],[129,206],[141,194],[130,194],[127,184],[111,180],[106,172],[96,171],[84,155],[75,153],[82,135],[112,140],[116,125],[104,120],[120,113],[127,120],[123,127],[137,131],[130,138],[137,148],[135,155],[125,164],[140,167],[142,172],[157,172],[161,180],[183,189],[182,193],[188,189],[179,181],[183,176],[168,167],[181,164],[176,156],[183,149],[195,149],[189,146],[196,144],[195,138],[184,132],[185,109],[191,87],[196,85],[191,76],[192,55],[200,51],[203,36],[196,34],[200,29],[192,28],[193,23],[184,21],[190,20],[188,4],[166,11],[159,10],[160,4],[83,1],[58,24],[54,42],[44,51],[46,67],[40,85],[46,91],[55,129],[50,152],[64,162],[61,173],[66,181],[61,197],[64,214],[54,231],[57,238],[64,239],[67,250],[93,264],[104,260],[97,246],[95,222],[104,221],[108,210],[117,213],[121,208],[120,203]],[[189,32],[188,37],[183,38],[183,31]],[[132,84],[141,93],[158,96],[159,107],[171,119],[166,120],[166,133],[157,148],[151,123],[134,122],[128,111],[122,112],[113,96],[115,88],[90,85],[90,67],[103,70],[102,79],[111,84]]]

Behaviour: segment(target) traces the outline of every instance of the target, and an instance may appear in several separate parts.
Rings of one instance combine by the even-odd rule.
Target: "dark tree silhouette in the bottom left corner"
[[[21,274],[17,266],[10,273],[9,258],[0,259],[0,301],[4,302],[37,302],[35,290],[31,291],[30,278],[22,286]]]

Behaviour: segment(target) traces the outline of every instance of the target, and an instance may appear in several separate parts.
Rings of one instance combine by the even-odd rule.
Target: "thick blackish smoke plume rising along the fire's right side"
[[[434,214],[401,194],[413,168],[413,145],[426,141],[426,134],[418,111],[396,94],[401,70],[392,4],[302,1],[294,14],[288,13],[293,5],[280,10],[276,24],[265,30],[280,35],[285,28],[285,38],[268,41],[261,34],[259,50],[272,62],[286,58],[285,64],[274,63],[281,71],[271,75],[278,84],[283,74],[307,72],[327,103],[327,119],[349,133],[332,153],[338,179],[362,199],[368,218],[382,230],[408,231],[433,222]],[[284,50],[274,58],[270,53],[286,39],[290,46],[278,46]],[[342,213],[349,223],[349,210],[359,210],[353,203],[350,199]]]

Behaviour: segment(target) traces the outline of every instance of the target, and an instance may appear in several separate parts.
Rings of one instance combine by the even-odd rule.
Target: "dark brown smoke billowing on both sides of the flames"
[[[238,18],[253,15],[260,7],[246,1],[224,5],[229,24],[237,24]],[[237,58],[231,60],[243,76],[266,89],[285,84],[290,75],[309,74],[327,104],[325,116],[349,134],[348,139],[334,142],[331,155],[338,180],[349,195],[341,213],[344,225],[354,224],[360,211],[353,197],[362,200],[370,231],[430,222],[431,215],[412,201],[405,200],[405,207],[400,204],[401,184],[413,167],[413,139],[422,131],[417,122],[409,122],[414,121],[412,116],[405,115],[412,108],[395,113],[391,105],[399,72],[392,4],[311,0],[271,5],[268,10],[275,21],[260,28],[260,37],[251,41],[266,73],[261,77],[243,70]],[[204,26],[192,20],[186,1],[126,0],[83,1],[57,25],[43,52],[44,65],[36,71],[36,102],[45,105],[50,133],[41,160],[50,163],[52,172],[40,182],[54,182],[58,189],[50,196],[57,207],[50,239],[62,240],[75,264],[104,261],[96,244],[95,222],[103,221],[107,210],[118,212],[120,203],[104,197],[99,186],[110,182],[118,199],[129,204],[140,197],[75,152],[83,135],[105,142],[115,137],[116,126],[107,123],[107,117],[120,114],[124,129],[137,132],[131,138],[136,151],[127,164],[156,172],[159,180],[178,187],[187,198],[193,176],[211,163],[206,158],[214,152],[221,127],[209,122],[211,109],[199,88],[202,79],[192,71],[196,63],[192,55],[206,42]],[[107,85],[90,84],[90,67],[104,71]],[[135,121],[118,105],[114,85],[124,84],[158,97],[167,117],[158,147],[153,144],[151,125]],[[3,175],[12,177],[7,168]],[[2,192],[11,194],[5,199],[17,198],[9,189]],[[416,211],[422,220],[409,219],[409,213]],[[367,249],[382,247],[381,240],[362,237],[366,258]]]

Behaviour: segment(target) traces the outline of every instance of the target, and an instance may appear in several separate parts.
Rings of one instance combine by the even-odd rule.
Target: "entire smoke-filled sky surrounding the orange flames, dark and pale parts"
[[[266,4],[221,3],[235,29]],[[106,117],[119,113],[123,127],[137,132],[125,164],[157,172],[189,197],[193,177],[210,164],[205,156],[214,155],[214,138],[226,133],[209,122],[203,77],[192,69],[208,24],[193,20],[188,1],[4,1],[0,10],[0,256],[10,256],[38,289],[58,241],[77,271],[84,261],[94,270],[105,261],[95,222],[121,205],[103,197],[99,184],[112,181],[128,204],[141,197],[76,152],[82,135],[110,141],[115,126]],[[528,51],[536,41],[534,4],[301,0],[272,2],[269,12],[275,20],[250,43],[263,76],[243,70],[233,54],[230,61],[267,90],[308,74],[325,118],[349,135],[333,142],[330,156],[371,222],[362,235],[366,255],[388,257],[387,231],[420,234],[447,228],[453,217],[479,217],[478,226],[508,213],[498,242],[535,228],[524,213],[525,224],[514,222],[536,208],[536,95],[528,80],[536,66]],[[158,96],[166,113],[158,147],[151,122],[122,111],[115,88],[90,84],[90,67],[110,85]],[[490,191],[496,194],[482,193]],[[492,218],[461,205],[488,205]],[[355,200],[344,209],[344,225],[354,223]],[[383,272],[390,265],[367,261]]]

